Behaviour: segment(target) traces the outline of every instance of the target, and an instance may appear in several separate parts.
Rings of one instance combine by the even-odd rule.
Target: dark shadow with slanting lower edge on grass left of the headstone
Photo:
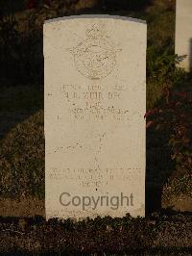
[[[0,95],[0,140],[16,124],[43,109],[43,90],[36,86],[3,87]]]

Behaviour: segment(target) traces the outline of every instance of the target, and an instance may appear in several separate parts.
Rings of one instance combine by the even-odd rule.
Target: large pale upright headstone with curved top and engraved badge
[[[46,218],[145,215],[144,21],[44,24]]]

